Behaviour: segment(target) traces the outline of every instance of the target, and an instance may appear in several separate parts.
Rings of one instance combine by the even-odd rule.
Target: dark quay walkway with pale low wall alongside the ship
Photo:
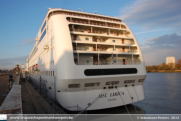
[[[16,83],[14,82],[14,84]],[[13,85],[0,107],[0,113],[66,114],[62,107],[56,105],[44,94],[39,92],[29,81],[20,81],[19,85]]]

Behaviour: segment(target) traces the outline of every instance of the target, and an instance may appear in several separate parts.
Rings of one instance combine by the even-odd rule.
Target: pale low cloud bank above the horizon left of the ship
[[[13,69],[16,64],[19,64],[21,67],[22,64],[26,63],[27,57],[28,56],[21,56],[16,58],[0,59],[0,69]]]

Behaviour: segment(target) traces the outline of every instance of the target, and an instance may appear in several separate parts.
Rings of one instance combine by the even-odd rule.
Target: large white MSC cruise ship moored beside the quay
[[[113,108],[145,98],[141,49],[117,17],[49,9],[26,65],[32,83],[70,111]]]

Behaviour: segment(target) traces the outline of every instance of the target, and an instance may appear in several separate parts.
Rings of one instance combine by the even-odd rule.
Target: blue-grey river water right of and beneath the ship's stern
[[[181,73],[147,73],[145,99],[127,105],[131,114],[181,114]],[[134,108],[136,106],[136,110]],[[127,114],[125,106],[88,111],[89,114]]]

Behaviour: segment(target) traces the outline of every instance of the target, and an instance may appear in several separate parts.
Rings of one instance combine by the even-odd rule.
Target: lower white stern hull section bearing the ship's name
[[[103,97],[100,97],[100,95]],[[106,97],[104,97],[105,95]],[[91,106],[88,107],[87,110],[98,110],[131,104],[145,98],[142,85],[135,87],[120,87],[117,89],[62,92],[58,97],[60,97],[58,98],[58,101],[62,106],[71,111],[84,110],[88,107],[89,103]],[[133,100],[131,97],[133,97]],[[92,103],[94,101],[95,103]]]

